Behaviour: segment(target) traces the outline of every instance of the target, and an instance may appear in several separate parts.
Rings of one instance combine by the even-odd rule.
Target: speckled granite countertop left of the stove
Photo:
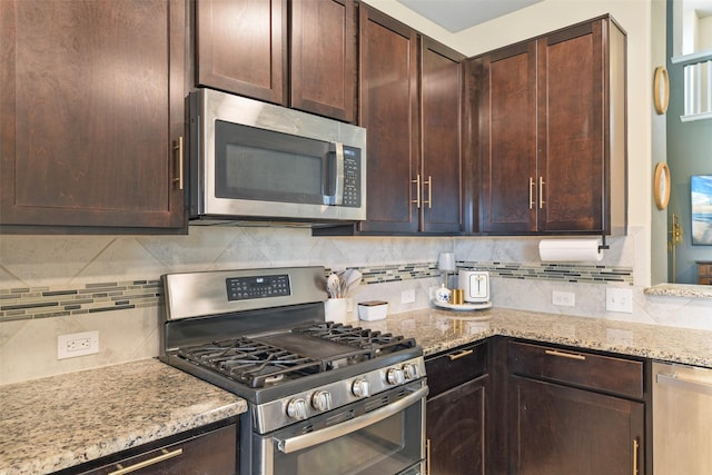
[[[158,359],[0,386],[0,475],[79,465],[247,410]]]

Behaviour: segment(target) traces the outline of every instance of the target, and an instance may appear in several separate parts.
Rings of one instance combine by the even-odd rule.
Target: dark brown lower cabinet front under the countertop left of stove
[[[229,420],[229,419],[228,419]],[[220,424],[222,424],[220,426]],[[55,475],[235,475],[238,427],[216,423],[134,449],[57,472]]]

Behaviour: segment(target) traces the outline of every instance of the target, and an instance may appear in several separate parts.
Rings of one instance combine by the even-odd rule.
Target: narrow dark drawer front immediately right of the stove
[[[429,397],[487,372],[487,344],[459,346],[425,360]]]

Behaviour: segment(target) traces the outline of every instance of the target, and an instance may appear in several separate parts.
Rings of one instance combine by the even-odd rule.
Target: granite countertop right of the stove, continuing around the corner
[[[437,308],[359,325],[415,337],[426,356],[494,335],[712,367],[712,331],[506,308]]]

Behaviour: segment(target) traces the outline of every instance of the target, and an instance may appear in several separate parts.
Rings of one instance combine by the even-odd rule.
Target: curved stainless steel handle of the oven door
[[[287,438],[284,441],[276,439],[277,448],[279,448],[279,451],[285,454],[291,454],[293,452],[303,451],[305,448],[309,448],[315,445],[323,444],[327,441],[333,441],[343,435],[359,431],[364,427],[390,417],[394,414],[397,414],[406,407],[412,406],[418,400],[425,398],[427,396],[427,386],[422,387],[396,403],[388,404],[387,406],[380,407],[360,417],[356,417],[355,419],[337,424],[335,426],[330,426],[309,434],[298,435],[296,437]]]

